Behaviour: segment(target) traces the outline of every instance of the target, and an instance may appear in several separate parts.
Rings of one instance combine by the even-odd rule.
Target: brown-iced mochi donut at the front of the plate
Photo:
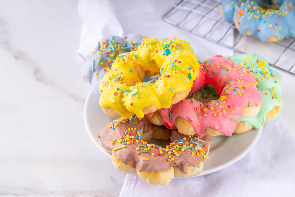
[[[121,118],[98,135],[112,152],[114,167],[124,174],[137,173],[149,184],[167,185],[176,176],[198,175],[208,158],[211,136],[184,136],[177,130],[156,126],[144,116]],[[151,138],[170,139],[167,146],[148,143]]]

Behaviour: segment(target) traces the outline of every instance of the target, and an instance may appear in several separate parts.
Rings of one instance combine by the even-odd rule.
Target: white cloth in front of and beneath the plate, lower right
[[[120,196],[294,196],[295,136],[277,117],[264,125],[253,149],[218,172],[149,185],[137,174],[126,175]],[[210,156],[210,153],[209,153]]]

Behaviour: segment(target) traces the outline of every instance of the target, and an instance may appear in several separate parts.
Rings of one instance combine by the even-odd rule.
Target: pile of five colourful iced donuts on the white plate
[[[116,118],[98,134],[114,167],[154,185],[198,175],[214,136],[261,128],[283,104],[281,75],[263,57],[200,62],[178,38],[105,38],[86,58],[82,76],[106,115]]]

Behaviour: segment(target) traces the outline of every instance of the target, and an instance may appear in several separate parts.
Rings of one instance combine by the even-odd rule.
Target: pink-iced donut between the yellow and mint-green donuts
[[[260,110],[262,96],[253,73],[223,56],[208,58],[201,69],[191,92],[209,84],[219,99],[202,103],[188,98],[147,116],[152,123],[178,128],[184,135],[231,136],[240,118],[253,117]]]

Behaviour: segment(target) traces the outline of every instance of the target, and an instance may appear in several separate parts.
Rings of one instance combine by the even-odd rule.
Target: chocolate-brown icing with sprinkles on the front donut
[[[139,171],[166,172],[171,166],[177,166],[186,173],[186,166],[199,166],[207,157],[212,136],[185,136],[172,130],[171,143],[162,147],[141,140],[140,133],[147,133],[156,126],[146,116],[141,120],[132,117],[130,122],[125,121],[125,118],[120,119],[117,126],[114,126],[115,121],[110,123],[98,137],[105,149],[112,151],[125,164],[132,161],[133,167]]]

